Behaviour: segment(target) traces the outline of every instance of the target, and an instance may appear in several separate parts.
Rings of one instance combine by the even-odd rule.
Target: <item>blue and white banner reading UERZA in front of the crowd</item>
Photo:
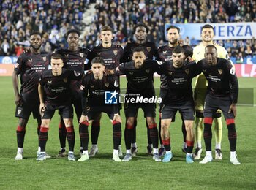
[[[193,37],[197,40],[201,39],[201,28],[206,23],[177,23],[173,24],[181,28],[181,38],[185,39]],[[165,24],[165,31],[170,23]],[[214,39],[252,39],[256,38],[256,23],[211,23],[214,26]],[[166,35],[166,32],[165,32]]]

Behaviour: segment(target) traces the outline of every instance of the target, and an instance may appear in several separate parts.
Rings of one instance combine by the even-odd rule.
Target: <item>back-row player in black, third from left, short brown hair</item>
[[[91,50],[91,59],[95,57],[101,57],[104,60],[105,69],[115,69],[120,64],[120,59],[123,56],[123,48],[120,45],[113,45],[113,29],[110,26],[103,26],[100,29],[99,39],[101,39],[102,44],[94,47]],[[113,80],[117,81],[118,92],[120,92],[119,87],[119,77],[116,75],[112,75]],[[120,104],[121,108],[121,104]],[[91,123],[91,151],[89,152],[89,156],[95,156],[95,154],[99,151],[98,149],[98,137],[100,131],[100,119],[101,114],[99,117],[94,118]],[[123,156],[121,152],[121,145],[118,148],[118,156]]]

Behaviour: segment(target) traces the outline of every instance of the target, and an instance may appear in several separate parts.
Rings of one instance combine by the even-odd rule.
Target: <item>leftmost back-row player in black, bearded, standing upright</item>
[[[17,64],[12,73],[16,104],[15,116],[19,118],[16,131],[18,151],[15,160],[23,159],[26,124],[31,113],[37,119],[37,134],[39,135],[41,117],[39,115],[37,86],[41,72],[48,69],[50,61],[50,55],[40,50],[42,38],[39,32],[35,31],[31,34],[30,45],[29,52],[23,53],[18,57]],[[20,75],[20,92],[18,89],[18,75]]]

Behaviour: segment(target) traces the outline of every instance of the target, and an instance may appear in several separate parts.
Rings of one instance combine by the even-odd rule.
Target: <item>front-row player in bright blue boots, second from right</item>
[[[162,102],[161,110],[161,135],[165,145],[165,156],[162,162],[169,162],[173,158],[170,148],[169,126],[176,112],[181,113],[187,132],[187,163],[193,163],[192,151],[194,146],[194,101],[192,97],[192,78],[200,74],[195,61],[185,60],[185,50],[175,47],[172,53],[172,61],[162,64],[161,71],[165,74],[167,94]]]

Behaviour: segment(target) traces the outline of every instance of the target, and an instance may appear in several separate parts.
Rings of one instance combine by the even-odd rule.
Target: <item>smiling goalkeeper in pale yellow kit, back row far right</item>
[[[193,50],[192,58],[198,62],[201,59],[205,58],[205,48],[206,45],[214,45],[214,28],[213,26],[206,24],[202,27],[201,31],[202,42],[197,45]],[[217,57],[225,58],[230,61],[227,50],[220,45],[216,45],[217,48]],[[194,159],[200,159],[202,153],[202,134],[203,134],[203,106],[206,97],[206,88],[208,84],[206,77],[201,73],[197,76],[195,82],[195,141],[196,149],[194,154]],[[215,159],[222,159],[221,151],[221,142],[222,142],[222,115],[221,111],[217,110],[217,113],[214,115],[214,134],[216,140],[215,146]]]

